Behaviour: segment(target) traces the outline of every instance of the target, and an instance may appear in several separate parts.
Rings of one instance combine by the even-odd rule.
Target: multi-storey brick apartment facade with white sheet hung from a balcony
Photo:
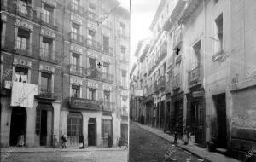
[[[118,6],[2,2],[1,146],[21,131],[28,147],[51,146],[53,135],[68,145],[127,141],[130,15]]]

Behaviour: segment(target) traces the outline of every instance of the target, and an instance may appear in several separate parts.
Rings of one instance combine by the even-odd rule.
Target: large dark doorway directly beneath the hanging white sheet
[[[21,131],[26,132],[26,109],[25,107],[14,107],[11,116],[9,145],[15,146]],[[26,133],[25,133],[26,135]]]

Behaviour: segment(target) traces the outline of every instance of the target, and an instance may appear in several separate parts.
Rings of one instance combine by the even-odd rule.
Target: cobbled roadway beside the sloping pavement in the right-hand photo
[[[170,154],[169,158],[166,159]],[[130,124],[130,162],[162,162],[181,161],[196,162],[204,161],[191,153],[178,148],[171,142],[161,139],[150,132],[139,128],[135,124]],[[206,160],[205,160],[206,161]]]

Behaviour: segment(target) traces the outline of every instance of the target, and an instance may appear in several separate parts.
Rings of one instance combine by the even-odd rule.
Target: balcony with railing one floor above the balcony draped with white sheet
[[[26,39],[28,42],[29,40]],[[32,45],[29,43],[21,42],[20,40],[15,40],[15,47],[14,52],[19,55],[26,55],[29,57],[34,57],[35,55],[32,55]]]

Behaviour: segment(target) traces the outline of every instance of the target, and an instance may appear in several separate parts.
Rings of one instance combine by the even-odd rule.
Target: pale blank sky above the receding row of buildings
[[[119,2],[125,9],[129,9],[130,0],[119,0]],[[159,2],[160,0],[131,0],[130,70],[136,62],[134,53],[138,41],[148,38],[152,34],[149,26],[154,19]]]

